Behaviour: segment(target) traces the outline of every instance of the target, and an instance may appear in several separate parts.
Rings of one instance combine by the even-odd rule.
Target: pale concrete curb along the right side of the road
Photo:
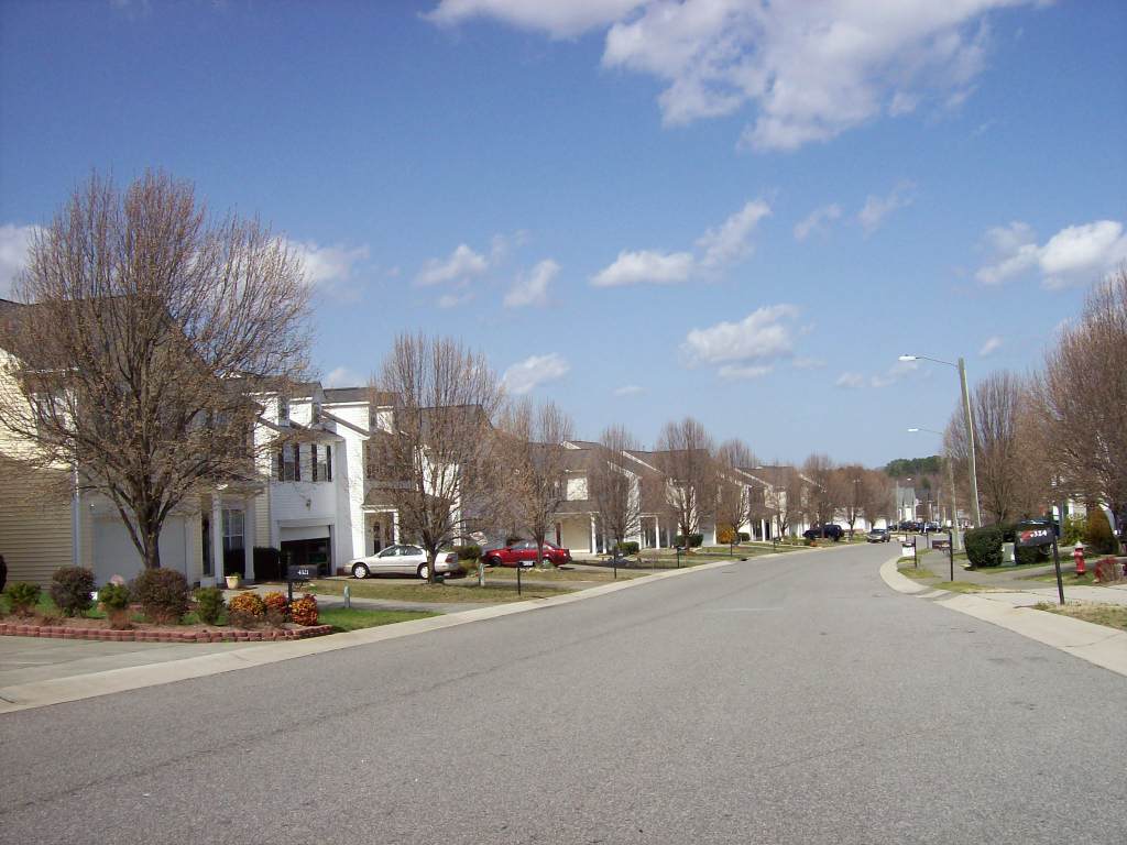
[[[937,592],[915,584],[896,571],[898,558],[880,567],[880,577],[897,593],[916,598],[931,598]],[[1070,616],[1058,616],[1031,607],[1014,607],[1003,601],[982,595],[950,593],[950,598],[935,599],[932,604],[974,616],[992,625],[1004,628],[1022,637],[1051,646],[1059,651],[1101,666],[1117,675],[1127,676],[1127,632],[1084,622]]]

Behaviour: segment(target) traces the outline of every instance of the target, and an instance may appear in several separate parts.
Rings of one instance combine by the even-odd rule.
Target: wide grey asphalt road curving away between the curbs
[[[1127,842],[1127,678],[891,553],[0,717],[0,842]]]

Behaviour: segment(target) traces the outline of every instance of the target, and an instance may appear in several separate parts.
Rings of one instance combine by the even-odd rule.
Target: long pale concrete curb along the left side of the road
[[[800,552],[783,552],[780,554],[762,554],[752,560],[764,558],[784,558]],[[66,678],[54,678],[30,684],[18,684],[0,688],[0,714],[12,713],[19,710],[30,710],[51,704],[61,704],[68,701],[79,701],[91,699],[98,695],[110,695],[113,693],[127,692],[130,690],[141,690],[147,686],[158,686],[160,684],[171,684],[177,681],[189,681],[192,678],[206,677],[208,675],[220,675],[225,671],[237,671],[249,669],[255,666],[266,666],[293,660],[299,657],[320,655],[326,651],[337,651],[339,649],[354,648],[356,646],[369,646],[384,640],[397,640],[401,637],[438,631],[445,628],[454,628],[471,622],[481,622],[499,616],[509,616],[515,613],[527,613],[545,607],[558,607],[583,602],[622,589],[640,587],[666,578],[680,578],[694,572],[704,572],[722,567],[730,567],[739,561],[720,560],[711,563],[701,563],[695,567],[684,569],[671,569],[664,572],[656,572],[642,578],[631,578],[629,580],[612,581],[597,587],[589,587],[576,593],[552,596],[551,598],[535,599],[531,602],[514,602],[511,604],[497,605],[494,607],[480,607],[461,613],[449,613],[431,619],[412,620],[410,622],[398,622],[392,625],[381,628],[369,628],[360,631],[348,631],[346,633],[331,634],[329,637],[318,637],[308,640],[296,640],[293,642],[278,642],[269,646],[254,646],[221,653],[201,655],[199,657],[188,657],[181,660],[172,660],[160,664],[149,664],[145,666],[130,666],[122,669],[110,669],[108,671],[91,673],[89,675],[74,675]]]

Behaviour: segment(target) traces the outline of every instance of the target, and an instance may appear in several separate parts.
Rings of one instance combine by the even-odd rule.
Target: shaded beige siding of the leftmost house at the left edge
[[[8,582],[47,584],[59,567],[71,564],[70,501],[36,495],[26,478],[15,483],[12,466],[0,464],[0,554]]]

